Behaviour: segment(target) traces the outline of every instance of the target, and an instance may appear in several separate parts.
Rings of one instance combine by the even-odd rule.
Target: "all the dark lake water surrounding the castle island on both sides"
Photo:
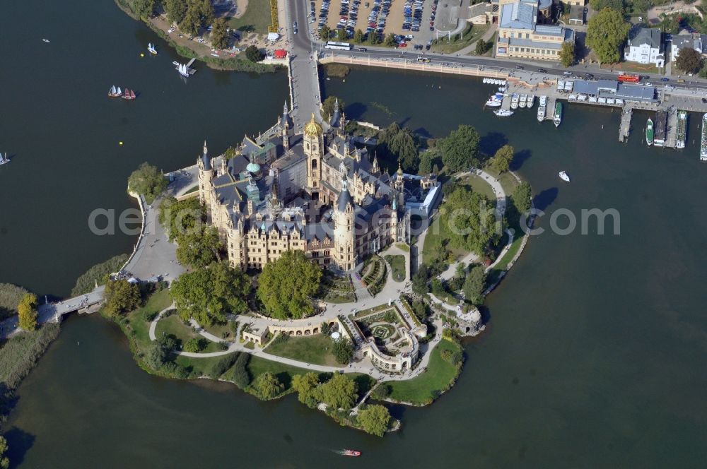
[[[8,113],[0,117],[4,140],[12,138],[18,148],[11,152],[18,154],[16,162],[0,172],[2,198],[8,200],[8,185],[14,188],[9,194],[21,188],[28,194],[1,208],[2,224],[11,227],[0,244],[1,259],[11,260],[0,265],[2,280],[65,292],[83,268],[128,250],[133,240],[92,241],[78,222],[59,225],[57,213],[85,220],[94,204],[77,201],[80,194],[129,206],[124,180],[139,162],[185,165],[194,159],[204,134],[215,149],[226,148],[244,131],[271,124],[287,93],[282,76],[256,81],[203,67],[185,86],[170,69],[172,58],[158,57],[156,64],[147,65],[148,59],[138,59],[152,33],[114,11],[110,1],[103,3],[54,7],[47,2],[56,11],[35,20],[40,34],[49,35],[45,28],[54,26],[49,18],[84,18],[76,27],[83,34],[89,28],[87,36],[100,47],[79,44],[76,33],[66,32],[72,30],[66,23],[54,26],[52,43],[38,42],[33,55],[14,52],[8,41],[1,46],[10,49],[6,57],[15,54],[7,62],[15,68],[4,77],[5,83],[13,82],[10,89],[40,88],[52,103],[42,104],[27,93],[0,95],[4,104],[16,102],[23,120],[33,124],[22,126]],[[28,21],[37,9],[10,9],[0,20],[12,32],[10,41],[34,48],[28,33],[14,25]],[[100,28],[86,20],[99,13]],[[42,87],[59,77],[39,76],[40,85],[25,83],[27,76],[44,69],[40,63],[64,63],[52,58],[56,51],[40,47],[54,48],[62,41],[71,42],[64,46],[71,48],[64,60],[74,66],[58,74],[66,76],[63,85],[86,81],[78,86],[84,92],[78,101],[86,100],[82,105],[70,99],[78,88],[71,88],[69,99],[52,101],[59,98]],[[86,54],[86,47],[115,50],[100,59],[98,52]],[[43,61],[35,59],[37,54]],[[122,66],[115,66],[116,61]],[[134,71],[126,69],[130,63]],[[160,69],[151,72],[158,76],[149,78],[146,68]],[[141,73],[146,78],[139,78]],[[143,84],[150,79],[151,87]],[[139,83],[135,87],[144,87],[144,100],[106,101],[107,86],[119,80]],[[407,468],[701,467],[707,457],[707,166],[699,162],[693,143],[699,117],[692,116],[688,148],[678,152],[645,147],[641,129],[647,115],[636,114],[636,130],[625,145],[617,141],[619,114],[603,109],[570,105],[559,129],[549,122],[538,124],[535,109],[497,119],[481,110],[492,88],[468,78],[356,70],[345,83],[324,83],[326,95],[347,103],[350,118],[383,126],[395,119],[430,136],[471,124],[487,150],[508,142],[520,152],[519,172],[530,180],[537,205],[546,213],[538,226],[547,231],[532,237],[520,261],[489,296],[486,332],[467,343],[467,361],[456,386],[431,407],[395,408],[402,431],[378,439],[339,427],[294,396],[262,403],[233,386],[149,376],[136,367],[116,326],[99,317],[73,317],[19,390],[7,427],[13,461],[28,468],[330,468],[361,463]],[[153,115],[146,103],[157,100],[151,96],[165,88],[173,91],[165,90],[169,96],[153,105],[160,109]],[[256,99],[260,97],[262,101]],[[131,114],[133,105],[149,115]],[[23,114],[24,107],[32,106],[37,112]],[[96,117],[76,118],[73,112],[62,112],[62,106],[81,107]],[[100,114],[96,108],[102,107],[111,110]],[[120,109],[115,116],[112,107]],[[129,123],[121,124],[122,119]],[[51,141],[40,138],[44,135],[51,135]],[[139,143],[133,143],[137,136]],[[128,148],[118,148],[118,139],[128,141]],[[76,189],[81,185],[77,170],[88,171],[88,191]],[[559,170],[572,175],[571,184],[561,182]],[[62,195],[49,195],[56,191],[49,187],[61,188]],[[66,191],[73,195],[67,197]],[[54,204],[51,210],[42,208],[49,203]],[[6,218],[17,206],[22,215]],[[549,230],[556,210],[570,210],[579,220],[580,210],[589,208],[618,210],[620,235],[597,235],[593,225],[589,235]],[[40,221],[45,217],[54,220],[51,229]],[[16,233],[32,223],[42,225],[45,236]],[[6,246],[13,236],[13,245]],[[83,237],[87,241],[79,242]],[[37,251],[40,239],[50,244],[45,254]],[[67,244],[66,239],[76,242]],[[124,249],[117,249],[120,242]],[[31,251],[22,254],[16,246]],[[47,262],[47,255],[61,262]],[[83,258],[85,265],[77,268],[77,259]],[[360,449],[363,460],[334,453],[344,448]]]

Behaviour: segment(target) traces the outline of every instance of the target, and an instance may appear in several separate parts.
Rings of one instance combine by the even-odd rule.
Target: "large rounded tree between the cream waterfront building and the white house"
[[[600,62],[613,64],[621,58],[620,47],[629,37],[630,29],[622,13],[604,8],[589,20],[585,42]]]

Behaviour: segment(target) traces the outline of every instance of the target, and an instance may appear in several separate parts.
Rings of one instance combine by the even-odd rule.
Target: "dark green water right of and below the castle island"
[[[142,30],[119,13],[105,20],[122,25],[115,35],[127,36],[124,41]],[[166,73],[163,81],[171,78]],[[349,117],[383,125],[396,119],[432,136],[466,123],[479,129],[486,148],[508,141],[522,150],[520,172],[547,213],[540,227],[547,229],[560,208],[576,214],[616,208],[621,235],[597,236],[592,225],[592,235],[548,231],[531,239],[489,297],[487,330],[467,345],[457,385],[430,408],[397,410],[404,428],[385,439],[341,428],[293,396],[261,403],[230,386],[153,378],[136,367],[115,326],[98,317],[69,319],[19,391],[8,425],[11,458],[21,467],[66,468],[702,467],[707,167],[692,145],[696,117],[684,151],[649,150],[641,143],[641,119],[622,146],[618,114],[589,107],[566,108],[560,129],[537,124],[534,109],[496,119],[480,110],[491,88],[478,81],[355,71],[346,83],[325,84],[327,94],[349,103]],[[284,95],[284,81],[278,86],[274,93]],[[103,93],[105,86],[98,88]],[[219,93],[235,93],[236,86],[223,88]],[[239,107],[230,112],[233,126],[250,126]],[[182,114],[199,112],[186,109]],[[271,112],[253,114],[271,121]],[[183,119],[185,141],[201,138]],[[216,130],[211,133],[216,140]],[[194,151],[184,153],[181,161],[189,162]],[[158,143],[148,156],[177,158]],[[125,165],[125,174],[132,166]],[[573,182],[561,184],[559,170]],[[98,193],[123,200],[118,179],[115,189]],[[99,254],[96,248],[86,256]],[[364,451],[363,459],[332,453],[347,447]]]

